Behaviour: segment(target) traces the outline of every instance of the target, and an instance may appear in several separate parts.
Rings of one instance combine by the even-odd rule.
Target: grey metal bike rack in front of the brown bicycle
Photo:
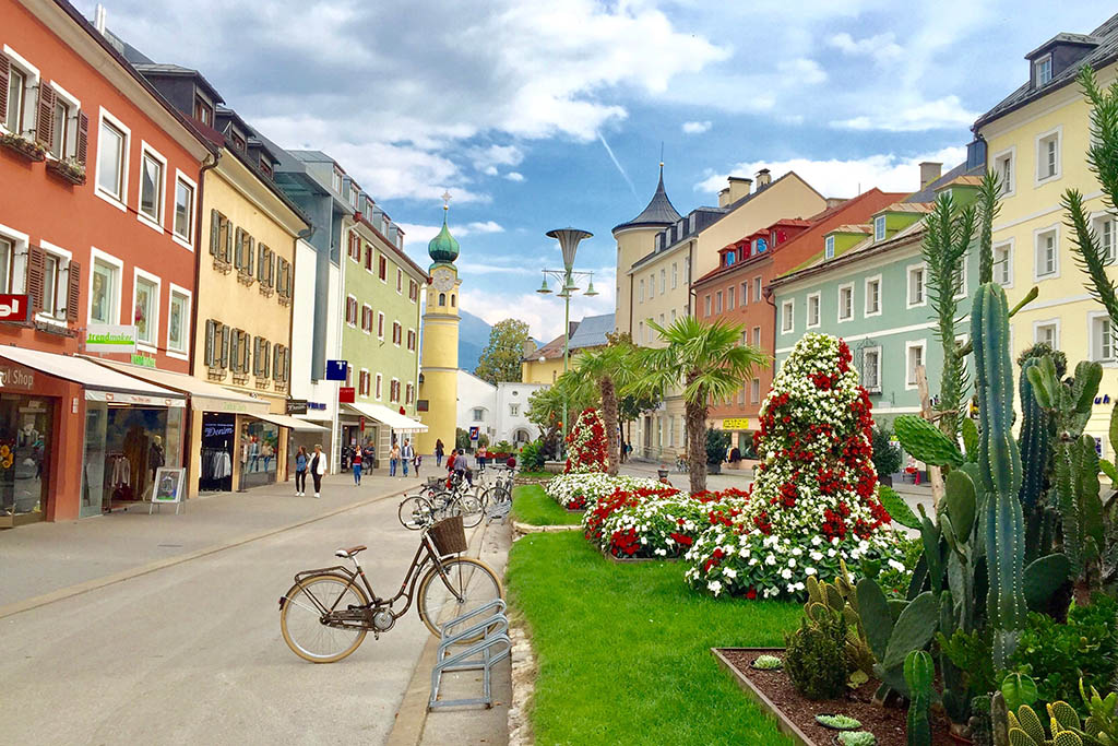
[[[438,652],[435,655],[435,668],[430,672],[428,710],[468,705],[493,707],[492,668],[512,653],[512,641],[509,640],[509,617],[504,612],[504,601],[495,598],[484,606],[451,620],[440,627],[442,641],[438,643]],[[452,633],[453,630],[472,620],[472,624]],[[479,634],[481,638],[477,636]],[[454,652],[452,648],[455,645],[465,646]],[[438,690],[443,683],[443,674],[447,671],[482,671],[482,696],[470,699],[440,700]]]

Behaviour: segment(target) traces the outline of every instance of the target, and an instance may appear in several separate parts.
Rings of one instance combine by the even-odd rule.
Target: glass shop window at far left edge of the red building
[[[53,399],[0,395],[0,526],[42,520],[54,425]]]

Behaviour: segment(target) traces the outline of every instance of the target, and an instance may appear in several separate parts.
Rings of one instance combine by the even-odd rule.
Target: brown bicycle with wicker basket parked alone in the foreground
[[[351,560],[356,569],[335,565],[303,570],[295,575],[295,585],[280,596],[284,642],[303,660],[342,660],[369,632],[379,640],[380,633],[391,630],[416,598],[419,618],[436,638],[440,636],[439,624],[504,598],[501,580],[489,565],[472,557],[445,558],[466,550],[465,530],[457,518],[424,531],[400,589],[391,598],[381,598],[369,584],[357,558],[366,549],[358,545],[337,550],[334,556]],[[436,578],[442,582],[436,583]],[[396,611],[392,605],[400,598],[407,603]]]

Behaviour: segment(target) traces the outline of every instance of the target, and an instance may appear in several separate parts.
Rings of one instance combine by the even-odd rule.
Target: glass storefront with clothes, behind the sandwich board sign
[[[183,412],[86,402],[83,518],[150,499],[155,470],[181,465]]]

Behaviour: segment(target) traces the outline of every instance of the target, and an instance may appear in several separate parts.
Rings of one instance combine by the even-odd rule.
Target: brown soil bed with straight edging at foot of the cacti
[[[907,710],[873,703],[879,682],[869,681],[842,699],[813,701],[805,698],[781,669],[758,671],[750,667],[759,655],[783,655],[783,650],[761,648],[716,648],[714,658],[733,673],[738,686],[760,707],[777,719],[783,733],[803,746],[828,746],[835,743],[835,731],[815,721],[821,712],[841,712],[861,721],[860,730],[872,733],[878,746],[907,746],[904,735]],[[955,743],[947,718],[932,715],[931,743]]]

